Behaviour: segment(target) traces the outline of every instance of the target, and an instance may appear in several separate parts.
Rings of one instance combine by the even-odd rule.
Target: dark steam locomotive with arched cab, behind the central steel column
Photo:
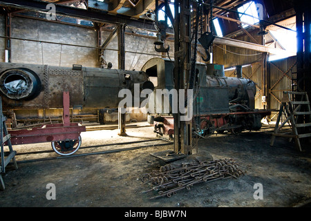
[[[196,64],[193,99],[193,133],[207,137],[215,132],[239,133],[245,130],[258,131],[261,119],[270,111],[255,109],[256,84],[242,77],[241,66],[237,66],[236,77],[225,77],[224,66],[218,64]],[[169,59],[153,58],[147,61],[142,71],[154,77],[155,90],[173,88],[173,62]],[[156,96],[156,95],[154,95]],[[159,106],[155,99],[149,106]],[[169,103],[172,104],[172,98]],[[161,107],[163,105],[160,105]],[[173,116],[164,110],[149,114],[149,123],[159,135],[173,136]]]

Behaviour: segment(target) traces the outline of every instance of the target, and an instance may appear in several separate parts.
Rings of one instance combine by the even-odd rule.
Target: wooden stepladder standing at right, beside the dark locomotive
[[[292,100],[293,95],[295,96],[294,101]],[[301,144],[299,139],[304,137],[311,137],[311,109],[308,94],[306,92],[285,91],[283,93],[281,102],[281,108],[276,120],[270,146],[273,146],[276,136],[290,137],[290,139],[294,138],[296,148],[301,151]],[[301,108],[303,106],[305,108]],[[279,126],[282,113],[285,113],[286,119],[281,124],[281,126]],[[290,134],[281,133],[281,128],[283,128],[287,122],[290,123],[292,132]],[[307,133],[300,133],[301,128],[305,128]]]

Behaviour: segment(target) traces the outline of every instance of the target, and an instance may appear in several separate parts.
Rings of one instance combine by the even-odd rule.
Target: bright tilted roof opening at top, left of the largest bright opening
[[[245,3],[243,6],[239,7],[238,12],[247,14],[247,15],[239,14],[241,21],[244,21],[247,23],[252,23],[252,24],[259,22],[258,12],[256,10],[256,5],[255,5],[254,1],[249,1],[249,2]],[[248,15],[252,15],[252,17],[250,17]],[[242,26],[243,26],[243,28],[248,27],[248,25],[245,23],[243,23]]]

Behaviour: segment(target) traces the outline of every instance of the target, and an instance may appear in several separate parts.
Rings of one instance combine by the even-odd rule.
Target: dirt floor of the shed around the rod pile
[[[270,129],[271,131],[271,129]],[[143,183],[144,173],[164,165],[151,153],[172,149],[173,145],[156,139],[152,126],[127,128],[127,137],[117,130],[82,133],[82,147],[75,155],[140,146],[116,153],[102,153],[62,158],[54,152],[25,155],[32,151],[51,151],[50,143],[13,146],[19,168],[6,168],[0,191],[0,206],[8,207],[287,207],[301,206],[311,198],[311,148],[299,152],[292,142],[276,137],[270,146],[269,131],[239,135],[213,135],[198,140],[198,154],[184,159],[234,158],[241,161],[247,175],[209,183],[196,184],[190,190],[178,191],[171,198],[151,200],[156,192],[142,193],[152,186]],[[151,140],[135,144],[140,140]],[[121,144],[120,144],[121,143]],[[122,144],[123,143],[123,144]],[[95,146],[102,144],[117,144]],[[153,146],[154,144],[169,144]],[[31,161],[35,158],[46,158]],[[28,160],[28,161],[27,161]],[[30,161],[29,161],[30,160]],[[56,200],[48,200],[47,184],[55,184]],[[254,199],[254,184],[262,184],[263,200]]]

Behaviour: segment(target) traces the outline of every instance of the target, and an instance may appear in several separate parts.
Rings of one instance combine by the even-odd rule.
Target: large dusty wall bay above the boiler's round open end
[[[59,43],[12,40],[12,63],[97,66],[97,49],[62,46],[63,43],[96,47],[97,33],[91,28],[12,17],[12,37]]]

